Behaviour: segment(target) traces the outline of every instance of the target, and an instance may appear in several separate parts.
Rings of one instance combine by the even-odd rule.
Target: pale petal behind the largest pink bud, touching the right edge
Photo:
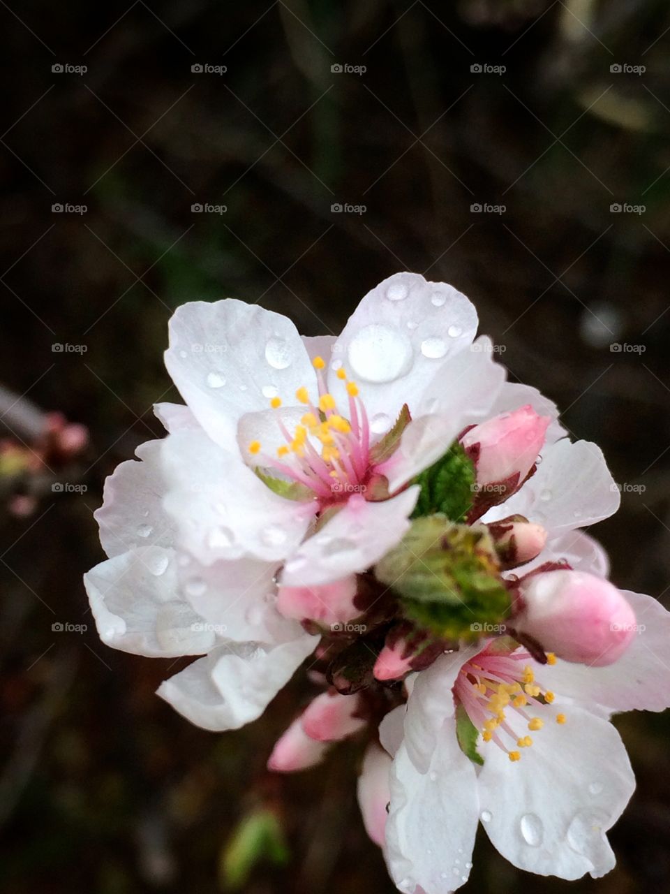
[[[608,712],[665,711],[670,706],[670,612],[651,596],[623,593],[635,612],[638,631],[618,662],[583,667],[557,661],[543,672],[543,682],[557,696],[599,704]]]

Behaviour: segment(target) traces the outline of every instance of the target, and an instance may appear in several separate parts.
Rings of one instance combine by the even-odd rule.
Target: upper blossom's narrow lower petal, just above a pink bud
[[[314,586],[370,568],[398,544],[409,527],[418,486],[383,502],[355,493],[322,529],[300,545],[284,566],[284,586]]]

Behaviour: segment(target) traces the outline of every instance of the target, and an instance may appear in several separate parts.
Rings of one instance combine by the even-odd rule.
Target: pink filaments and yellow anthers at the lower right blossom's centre
[[[554,701],[554,693],[535,679],[529,663],[531,654],[517,649],[512,654],[499,654],[487,646],[461,668],[454,696],[463,705],[473,725],[481,731],[484,742],[494,742],[507,752],[510,761],[521,760],[520,748],[532,746],[532,738],[520,727],[537,732],[544,726],[538,714]],[[547,655],[549,664],[556,656]],[[523,663],[526,662],[526,663]],[[556,715],[557,723],[565,723],[565,714]],[[509,741],[513,747],[507,747]]]

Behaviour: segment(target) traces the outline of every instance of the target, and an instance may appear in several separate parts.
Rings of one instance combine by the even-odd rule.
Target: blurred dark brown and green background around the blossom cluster
[[[233,296],[337,333],[408,269],[470,296],[510,377],[602,446],[623,506],[593,533],[620,586],[665,599],[668,6],[11,0],[0,21],[2,890],[225,890],[231,836],[268,808],[289,863],[242,890],[390,892],[356,743],[319,771],[264,772],[306,684],[214,735],[155,697],[169,662],[100,644],[81,586],[103,558],[91,513],[160,434],[152,403],[179,400],[174,308]],[[45,446],[41,411],[88,426],[88,446]],[[670,890],[670,721],[617,725],[638,790],[616,870],[525,875],[482,836],[464,890]]]

